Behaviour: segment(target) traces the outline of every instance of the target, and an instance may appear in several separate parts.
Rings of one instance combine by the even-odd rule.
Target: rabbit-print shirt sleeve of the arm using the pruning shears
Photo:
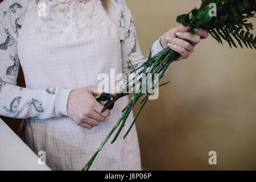
[[[29,2],[5,0],[0,4],[0,115],[23,119],[68,116],[67,102],[72,89],[16,85],[20,65],[17,40]]]

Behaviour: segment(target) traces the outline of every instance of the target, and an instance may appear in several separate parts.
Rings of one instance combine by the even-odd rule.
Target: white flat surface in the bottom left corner
[[[2,119],[0,119],[0,170],[51,170],[47,165],[38,164],[38,156]]]

